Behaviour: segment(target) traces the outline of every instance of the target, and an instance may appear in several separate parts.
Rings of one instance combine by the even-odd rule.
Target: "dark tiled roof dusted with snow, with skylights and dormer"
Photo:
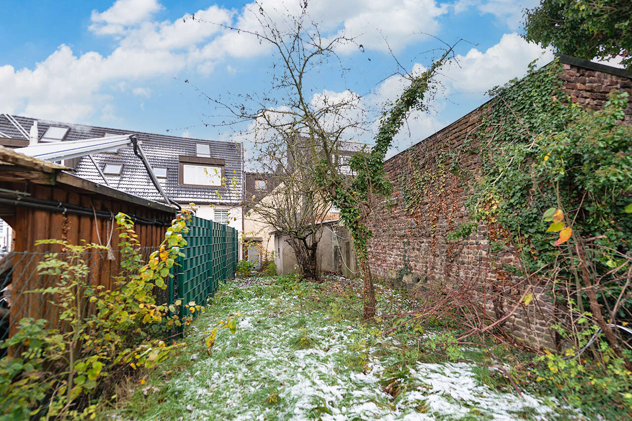
[[[33,125],[34,118],[13,116],[27,131]],[[39,137],[42,137],[49,126],[63,126],[70,128],[64,140],[81,140],[103,137],[105,133],[136,135],[141,141],[145,156],[154,168],[167,168],[167,180],[162,181],[162,188],[167,196],[181,204],[194,203],[226,203],[238,204],[242,196],[242,162],[241,143],[219,142],[216,140],[202,140],[195,138],[183,138],[156,133],[143,133],[140,131],[121,130],[118,128],[105,128],[98,126],[75,125],[37,119]],[[13,138],[24,138],[13,124],[0,115],[0,132]],[[179,156],[196,156],[196,143],[207,143],[210,149],[210,157],[224,159],[226,162],[226,185],[221,188],[209,186],[181,186],[178,185]],[[160,193],[152,184],[142,161],[134,155],[131,148],[124,148],[118,154],[95,154],[93,156],[97,165],[103,169],[106,163],[123,164],[120,178],[108,178],[110,186],[124,192],[140,197],[162,201]],[[83,157],[76,165],[75,174],[96,183],[104,184],[97,169],[89,157]],[[160,180],[160,179],[159,179]]]

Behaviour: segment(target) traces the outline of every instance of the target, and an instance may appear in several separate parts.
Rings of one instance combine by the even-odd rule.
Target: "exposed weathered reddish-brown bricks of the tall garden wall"
[[[591,109],[602,107],[612,90],[627,90],[632,94],[632,80],[604,71],[591,70],[564,64],[561,74],[564,89],[573,102]],[[632,102],[632,101],[631,101]],[[463,153],[459,167],[470,174],[465,179],[449,171],[450,159],[437,157],[461,149],[463,142],[471,142],[466,149],[477,147],[474,138],[468,136],[476,130],[481,113],[490,103],[467,114],[441,131],[385,164],[385,171],[392,181],[394,193],[372,213],[371,228],[374,237],[370,243],[370,262],[375,276],[394,282],[403,282],[409,290],[423,295],[432,285],[445,286],[475,284],[473,294],[485,303],[492,319],[511,310],[525,288],[531,288],[533,303],[521,305],[513,317],[507,319],[504,328],[532,346],[553,348],[552,331],[549,329],[554,308],[547,300],[544,288],[512,276],[503,269],[506,265],[520,267],[518,253],[502,244],[502,228],[478,226],[470,236],[462,240],[446,237],[461,224],[470,223],[465,207],[466,188],[480,174],[480,157]],[[632,104],[626,109],[626,122],[632,122]],[[405,186],[414,183],[411,170],[422,169],[423,192],[419,206],[407,209],[404,200]],[[419,173],[418,173],[419,174]],[[490,252],[488,238],[495,246]],[[404,276],[406,274],[406,276]],[[510,302],[494,300],[498,296],[511,296]],[[495,302],[495,305],[494,305]]]

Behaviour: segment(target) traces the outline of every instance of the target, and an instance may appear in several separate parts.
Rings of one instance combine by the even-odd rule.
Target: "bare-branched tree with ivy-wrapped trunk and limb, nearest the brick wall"
[[[392,143],[392,138],[403,125],[413,109],[424,111],[427,105],[424,99],[432,94],[432,77],[448,56],[453,54],[453,46],[441,49],[441,58],[421,75],[410,75],[398,63],[404,73],[398,73],[410,80],[411,85],[404,94],[391,104],[392,108],[382,114],[380,128],[375,136],[376,145],[370,151],[356,154],[347,169],[339,165],[338,154],[341,143],[368,130],[374,121],[374,112],[365,108],[362,98],[353,92],[343,92],[327,96],[315,92],[312,88],[313,76],[321,68],[331,70],[332,64],[339,66],[341,77],[348,69],[344,68],[337,55],[340,47],[356,45],[363,51],[362,45],[344,34],[334,37],[322,37],[319,27],[307,13],[305,1],[298,15],[274,11],[274,18],[258,5],[257,16],[260,30],[249,32],[240,28],[231,30],[246,32],[271,46],[275,53],[272,69],[272,85],[263,94],[245,94],[234,97],[236,101],[211,99],[225,107],[230,114],[230,123],[255,121],[248,130],[254,137],[254,147],[262,152],[258,164],[274,162],[278,152],[289,152],[288,145],[296,145],[300,138],[300,149],[313,164],[301,167],[301,175],[295,180],[309,180],[309,192],[317,193],[317,200],[323,203],[333,202],[341,209],[341,219],[351,231],[354,247],[364,278],[364,318],[375,314],[375,293],[368,262],[367,241],[371,236],[366,221],[376,197],[388,193],[388,181],[382,177],[382,161]],[[279,19],[279,16],[283,16]],[[243,134],[243,133],[242,133]],[[289,166],[291,162],[286,162]],[[312,171],[313,173],[310,173]],[[295,183],[288,183],[295,186]],[[312,190],[313,189],[313,190]],[[299,189],[300,190],[300,189]],[[287,192],[289,193],[289,192]],[[281,208],[285,204],[277,204]],[[297,204],[293,204],[296,206]],[[269,212],[272,216],[273,212]],[[280,219],[279,219],[280,220]],[[288,218],[285,225],[288,233],[296,235],[296,219]],[[312,236],[313,237],[313,236]],[[300,241],[296,237],[295,243]],[[302,241],[302,240],[301,240]],[[304,246],[303,246],[304,247]],[[306,248],[306,250],[311,250]],[[315,252],[315,247],[313,248]],[[297,253],[298,257],[298,253]]]

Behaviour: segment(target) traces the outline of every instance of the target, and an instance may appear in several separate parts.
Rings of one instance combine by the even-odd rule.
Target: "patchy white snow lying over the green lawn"
[[[247,284],[244,291],[253,285]],[[322,315],[291,310],[304,298],[284,291],[225,304],[222,311],[243,314],[237,333],[219,331],[211,355],[194,354],[199,357],[191,358],[186,371],[168,384],[166,393],[186,403],[181,419],[413,421],[467,416],[505,421],[547,420],[556,414],[554,401],[547,405],[530,394],[490,390],[477,382],[474,365],[465,362],[416,363],[409,367],[408,389],[394,399],[380,385],[384,367],[392,364],[389,355],[369,350],[365,370],[350,369],[348,358],[362,352],[356,345],[367,332],[348,320],[322,326]],[[214,320],[205,317],[196,324],[204,320],[213,326]],[[300,334],[312,339],[313,348],[293,346]],[[275,394],[276,404],[267,401]],[[146,417],[154,419],[155,413]]]

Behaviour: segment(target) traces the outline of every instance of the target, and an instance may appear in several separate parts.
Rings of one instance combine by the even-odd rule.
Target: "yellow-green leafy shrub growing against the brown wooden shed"
[[[73,245],[68,241],[41,240],[37,244],[61,245],[70,253],[61,257],[48,253],[37,269],[40,275],[57,279],[54,286],[32,292],[53,295],[49,301],[59,309],[63,327],[47,326],[47,320],[22,319],[18,332],[0,344],[23,350],[18,357],[0,360],[0,418],[94,417],[97,405],[90,396],[100,396],[106,379],[139,367],[152,368],[183,347],[167,343],[147,332],[155,325],[189,324],[180,318],[178,306],[158,305],[152,291],[165,289],[165,279],[173,276],[171,267],[182,256],[186,245],[188,214],[179,215],[167,229],[164,241],[142,264],[140,242],[133,223],[125,214],[116,216],[121,243],[121,274],[115,290],[104,290],[87,282],[88,265],[83,259],[88,250],[105,247],[94,243]],[[85,315],[87,304],[94,308]],[[203,310],[190,302],[187,314]],[[205,334],[205,344],[213,345],[219,327],[234,331],[234,315],[222,320]],[[161,331],[164,335],[166,332]]]

